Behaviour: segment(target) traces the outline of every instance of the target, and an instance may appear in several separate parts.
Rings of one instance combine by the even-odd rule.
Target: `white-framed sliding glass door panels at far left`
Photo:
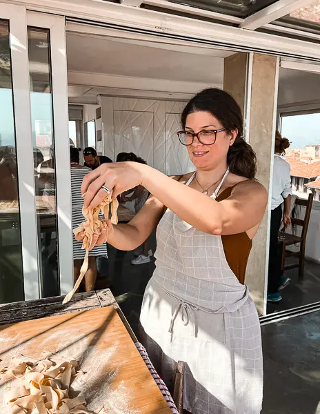
[[[63,17],[0,4],[0,304],[72,286]]]

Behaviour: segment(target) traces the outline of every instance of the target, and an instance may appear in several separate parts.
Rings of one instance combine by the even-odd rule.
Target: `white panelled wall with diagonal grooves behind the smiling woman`
[[[194,170],[177,131],[185,106],[181,101],[101,97],[104,155],[134,152],[168,175]]]

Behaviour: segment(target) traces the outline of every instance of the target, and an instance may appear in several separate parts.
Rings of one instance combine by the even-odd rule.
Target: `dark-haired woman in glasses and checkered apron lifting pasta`
[[[157,228],[157,268],[140,317],[150,359],[171,390],[177,362],[186,362],[187,412],[257,414],[261,333],[243,280],[268,196],[254,180],[255,155],[228,93],[203,90],[183,110],[181,124],[194,173],[179,180],[138,163],[101,166],[83,180],[85,204],[106,197],[103,185],[113,197],[139,184],[152,194],[108,239],[132,250]]]

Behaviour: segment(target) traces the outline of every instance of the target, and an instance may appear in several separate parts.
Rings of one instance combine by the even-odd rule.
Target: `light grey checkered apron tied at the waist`
[[[221,237],[166,210],[155,257],[140,322],[159,375],[172,391],[177,362],[186,362],[183,407],[192,414],[260,413],[259,318],[248,288],[228,266]]]

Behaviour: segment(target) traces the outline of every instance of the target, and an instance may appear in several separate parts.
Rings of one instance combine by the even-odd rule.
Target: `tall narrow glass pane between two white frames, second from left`
[[[59,295],[49,30],[28,28],[41,295]]]

